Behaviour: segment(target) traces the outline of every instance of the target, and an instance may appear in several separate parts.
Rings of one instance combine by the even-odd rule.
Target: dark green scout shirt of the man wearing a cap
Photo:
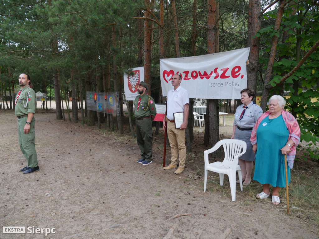
[[[135,118],[144,118],[150,115],[155,116],[156,108],[155,108],[154,99],[148,94],[144,94],[141,96],[141,101],[138,105],[139,98],[140,96],[138,95],[134,100]],[[138,106],[138,110],[137,110],[137,106]]]

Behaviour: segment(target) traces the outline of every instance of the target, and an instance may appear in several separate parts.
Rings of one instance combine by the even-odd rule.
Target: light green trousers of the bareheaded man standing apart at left
[[[30,124],[30,132],[29,134],[25,134],[23,132],[24,127],[26,125],[27,117],[18,119],[18,135],[19,135],[19,144],[20,149],[25,156],[26,160],[28,161],[28,167],[29,168],[35,168],[38,166],[38,158],[37,153],[35,152],[35,132],[34,132],[34,126],[35,126],[35,119],[33,117],[31,124]]]

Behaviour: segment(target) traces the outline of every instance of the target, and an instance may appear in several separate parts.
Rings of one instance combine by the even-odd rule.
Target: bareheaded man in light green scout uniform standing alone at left
[[[28,161],[28,166],[20,169],[24,174],[39,170],[37,153],[35,152],[35,119],[33,117],[37,106],[35,92],[31,89],[30,76],[19,76],[21,90],[15,100],[15,115],[18,117],[18,134],[20,149]]]

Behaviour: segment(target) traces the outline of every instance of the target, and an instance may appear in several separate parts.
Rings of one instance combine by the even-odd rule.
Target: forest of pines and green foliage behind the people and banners
[[[159,59],[250,47],[247,87],[262,91],[263,111],[269,96],[288,92],[286,109],[298,119],[301,140],[312,146],[308,154],[318,160],[318,10],[315,0],[2,0],[0,108],[14,109],[14,89],[24,72],[36,92],[55,99],[57,120],[66,118],[61,101],[71,89],[72,105],[79,107],[66,105],[69,120],[72,110],[78,122],[81,109],[83,124],[106,123],[122,134],[124,73],[144,66],[147,93],[162,103]],[[86,91],[115,92],[116,117],[86,110]],[[220,102],[207,100],[206,145],[219,141]],[[134,136],[132,101],[126,104]],[[193,104],[190,99],[190,112]],[[192,122],[189,114],[188,151]]]

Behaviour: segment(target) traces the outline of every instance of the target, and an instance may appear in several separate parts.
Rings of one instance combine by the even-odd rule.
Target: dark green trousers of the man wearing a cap
[[[151,162],[153,156],[153,131],[151,118],[143,120],[135,120],[136,126],[136,141],[141,150],[141,158]]]

